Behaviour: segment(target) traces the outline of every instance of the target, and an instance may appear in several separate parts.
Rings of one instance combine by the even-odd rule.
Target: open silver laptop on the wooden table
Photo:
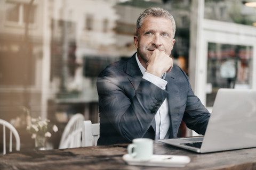
[[[198,153],[256,147],[256,90],[219,89],[204,136],[158,141]]]

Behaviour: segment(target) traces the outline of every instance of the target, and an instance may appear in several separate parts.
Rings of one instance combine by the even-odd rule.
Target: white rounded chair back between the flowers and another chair
[[[84,116],[80,113],[77,113],[70,118],[62,133],[59,149],[82,146],[83,121]]]

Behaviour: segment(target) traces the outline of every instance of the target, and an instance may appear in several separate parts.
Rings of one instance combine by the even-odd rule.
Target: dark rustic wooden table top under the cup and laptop
[[[256,148],[196,154],[154,141],[154,154],[187,155],[191,162],[184,168],[127,165],[122,156],[127,144],[21,151],[0,156],[0,169],[256,169]]]

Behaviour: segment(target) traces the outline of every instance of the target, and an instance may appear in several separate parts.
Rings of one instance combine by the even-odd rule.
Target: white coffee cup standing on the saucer
[[[137,138],[127,147],[128,154],[135,159],[150,160],[153,155],[153,140],[148,138]]]

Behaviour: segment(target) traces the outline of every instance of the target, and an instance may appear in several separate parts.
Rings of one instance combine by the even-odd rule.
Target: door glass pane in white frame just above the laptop
[[[220,88],[251,88],[252,56],[251,46],[208,44],[207,107],[213,106]]]

